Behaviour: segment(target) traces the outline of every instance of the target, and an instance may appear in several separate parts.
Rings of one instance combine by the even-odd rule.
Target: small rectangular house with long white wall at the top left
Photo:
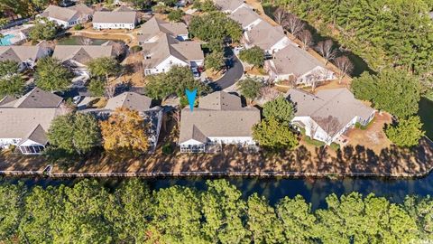
[[[133,30],[137,21],[136,12],[102,12],[97,11],[93,15],[93,28],[103,29],[128,29]]]

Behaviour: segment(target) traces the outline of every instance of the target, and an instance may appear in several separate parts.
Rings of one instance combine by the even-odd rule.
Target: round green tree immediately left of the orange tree
[[[82,113],[54,118],[47,136],[51,145],[78,155],[88,153],[101,140],[96,118]]]

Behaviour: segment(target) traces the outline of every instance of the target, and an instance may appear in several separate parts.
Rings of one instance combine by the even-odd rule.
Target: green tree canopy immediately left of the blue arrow
[[[170,95],[185,96],[185,89],[198,89],[198,95],[206,94],[210,88],[194,80],[189,67],[174,66],[166,73],[148,77],[145,86],[146,95],[152,99],[165,99]]]

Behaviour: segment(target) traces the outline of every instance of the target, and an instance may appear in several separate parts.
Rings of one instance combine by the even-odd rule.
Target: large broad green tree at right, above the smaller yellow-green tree
[[[374,108],[396,117],[409,117],[418,112],[419,80],[404,70],[382,70],[378,75],[363,74],[352,82],[357,99],[373,101]]]

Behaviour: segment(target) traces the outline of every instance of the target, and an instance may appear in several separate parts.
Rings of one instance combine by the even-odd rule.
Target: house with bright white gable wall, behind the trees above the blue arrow
[[[166,72],[173,66],[200,67],[205,60],[199,42],[180,42],[167,33],[160,33],[157,42],[142,47],[144,75]]]

